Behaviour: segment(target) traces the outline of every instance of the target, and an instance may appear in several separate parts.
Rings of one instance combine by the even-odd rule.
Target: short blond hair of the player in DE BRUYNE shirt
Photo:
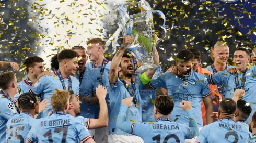
[[[63,111],[70,99],[70,92],[67,90],[55,90],[51,97],[51,105],[54,111]]]

